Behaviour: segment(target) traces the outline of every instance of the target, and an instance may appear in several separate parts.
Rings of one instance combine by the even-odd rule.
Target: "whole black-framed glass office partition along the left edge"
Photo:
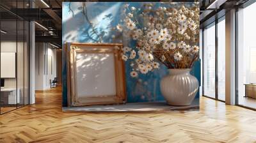
[[[28,8],[28,1],[0,1],[15,8]],[[4,14],[3,14],[4,13]],[[0,114],[29,103],[29,22],[0,8]]]

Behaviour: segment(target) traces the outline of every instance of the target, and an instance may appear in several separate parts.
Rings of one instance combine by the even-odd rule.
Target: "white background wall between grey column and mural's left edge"
[[[35,90],[49,89],[50,79],[56,77],[56,49],[49,43],[36,43],[35,47]]]

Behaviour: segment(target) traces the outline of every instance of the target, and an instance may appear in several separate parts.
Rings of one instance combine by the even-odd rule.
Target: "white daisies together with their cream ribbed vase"
[[[161,79],[161,92],[170,105],[190,105],[198,91],[198,80],[190,75],[198,59],[199,8],[193,5],[154,6],[143,10],[125,4],[124,19],[116,26],[136,47],[124,47],[122,59],[131,59],[132,77],[146,74],[163,63],[170,74]]]

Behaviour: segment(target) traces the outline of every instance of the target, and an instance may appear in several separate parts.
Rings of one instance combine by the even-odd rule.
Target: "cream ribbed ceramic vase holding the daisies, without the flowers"
[[[169,75],[161,80],[161,92],[169,105],[190,105],[198,91],[198,80],[191,69],[169,69]]]

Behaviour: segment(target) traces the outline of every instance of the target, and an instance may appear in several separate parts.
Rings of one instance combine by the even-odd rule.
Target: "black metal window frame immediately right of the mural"
[[[213,100],[218,100],[218,101],[220,101],[220,102],[225,102],[224,100],[220,100],[219,98],[218,98],[218,22],[220,22],[221,20],[223,20],[223,18],[225,17],[225,15],[223,15],[222,17],[220,17],[220,18],[217,18],[216,17],[216,19],[215,19],[215,21],[214,22],[211,22],[210,24],[208,24],[207,26],[204,26],[204,28],[202,29],[202,62],[203,62],[203,64],[202,64],[202,80],[203,80],[203,82],[202,82],[202,96],[204,96],[204,97],[207,97],[207,98],[211,98],[211,99],[213,99]],[[212,25],[214,23],[214,25]],[[207,96],[207,95],[205,95],[204,94],[204,84],[205,84],[205,81],[204,81],[204,73],[205,73],[205,71],[204,71],[204,29],[205,29],[205,27],[208,27],[208,26],[210,26],[211,27],[211,25],[212,26],[215,26],[215,98],[212,98],[212,97],[210,97],[210,96]]]

